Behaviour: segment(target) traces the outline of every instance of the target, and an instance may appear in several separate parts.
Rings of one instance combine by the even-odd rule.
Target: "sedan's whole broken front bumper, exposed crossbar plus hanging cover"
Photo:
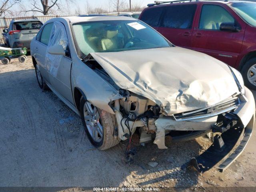
[[[173,141],[190,140],[209,132],[220,133],[214,137],[214,143],[208,150],[192,158],[189,166],[193,166],[199,172],[205,172],[218,165],[218,169],[222,172],[243,152],[252,129],[256,126],[254,97],[252,92],[245,88],[245,94],[239,96],[239,106],[230,112],[180,121],[164,116],[158,118],[155,124],[157,129],[154,144],[160,149],[167,148],[164,142],[166,131],[191,132],[187,137],[174,137]]]

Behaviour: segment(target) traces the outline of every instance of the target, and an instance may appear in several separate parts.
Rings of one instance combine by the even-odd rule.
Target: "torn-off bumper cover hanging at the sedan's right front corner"
[[[248,88],[246,88],[245,96],[242,104],[234,112],[242,126],[222,133],[221,137],[224,142],[222,148],[213,143],[200,156],[192,158],[188,166],[196,168],[198,172],[206,172],[214,166],[218,166],[218,170],[223,172],[242,154],[251,137],[252,129],[256,126],[254,97]]]

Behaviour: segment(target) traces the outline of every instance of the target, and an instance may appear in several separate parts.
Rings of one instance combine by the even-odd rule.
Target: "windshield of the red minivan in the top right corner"
[[[230,6],[240,15],[248,24],[256,27],[256,3],[240,2],[232,3]]]

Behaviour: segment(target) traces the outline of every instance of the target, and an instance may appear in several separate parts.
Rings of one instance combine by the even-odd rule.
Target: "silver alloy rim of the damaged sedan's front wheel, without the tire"
[[[100,121],[100,114],[95,106],[86,101],[84,104],[84,121],[87,130],[95,142],[103,139],[103,127]]]

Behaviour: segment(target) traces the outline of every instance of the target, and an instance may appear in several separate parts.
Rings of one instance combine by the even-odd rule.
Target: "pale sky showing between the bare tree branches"
[[[40,0],[37,0],[38,2],[40,2]],[[88,4],[90,4],[90,6],[92,8],[95,7],[100,7],[100,8],[104,8],[106,10],[109,10],[109,0],[74,0],[74,4],[70,4],[70,6],[67,8],[66,6],[64,6],[66,8],[66,11],[61,12],[61,14],[74,14],[75,11],[79,8],[80,11],[82,13],[86,13],[86,2],[88,1]],[[127,4],[129,4],[129,0],[124,0]],[[131,0],[132,3],[134,4],[140,4],[142,7],[146,7],[147,4],[149,3],[154,3],[154,0]],[[32,0],[22,0],[22,6],[26,9],[31,8],[31,2]],[[62,2],[65,2],[65,0],[62,0]],[[20,6],[16,5],[12,8],[12,11],[14,13],[17,13],[20,11]],[[112,10],[111,10],[112,11]],[[32,15],[32,12],[28,12],[26,15]],[[60,13],[58,13],[60,14]],[[35,15],[41,15],[38,12],[35,12]]]

